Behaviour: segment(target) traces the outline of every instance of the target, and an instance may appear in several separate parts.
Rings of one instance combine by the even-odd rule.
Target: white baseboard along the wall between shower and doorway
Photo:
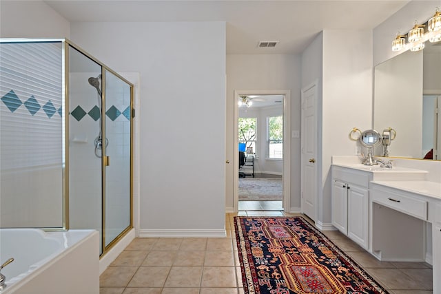
[[[174,238],[225,238],[227,232],[225,229],[140,229],[139,237],[174,237]]]

